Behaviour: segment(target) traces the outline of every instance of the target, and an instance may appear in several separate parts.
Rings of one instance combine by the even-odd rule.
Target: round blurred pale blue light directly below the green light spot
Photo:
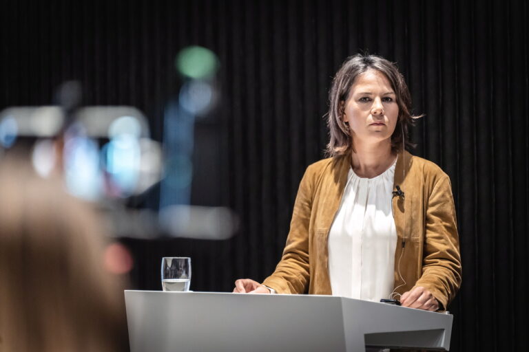
[[[180,89],[180,105],[189,113],[200,115],[209,110],[214,101],[214,88],[204,80],[189,80]]]

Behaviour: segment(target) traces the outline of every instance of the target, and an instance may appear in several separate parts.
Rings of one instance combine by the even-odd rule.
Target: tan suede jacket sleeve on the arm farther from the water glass
[[[448,175],[433,187],[426,209],[422,276],[415,287],[430,290],[444,310],[461,285],[459,235]]]

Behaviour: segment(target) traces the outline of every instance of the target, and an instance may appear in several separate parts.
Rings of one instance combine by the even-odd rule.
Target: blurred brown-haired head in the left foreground
[[[94,209],[0,162],[0,351],[124,351],[123,278],[103,267]]]

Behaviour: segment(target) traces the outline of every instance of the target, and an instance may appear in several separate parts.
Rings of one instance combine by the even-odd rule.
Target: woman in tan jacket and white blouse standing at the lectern
[[[351,56],[329,92],[328,158],[310,165],[275,272],[234,292],[333,294],[446,309],[461,285],[450,179],[406,151],[411,97],[393,63]]]

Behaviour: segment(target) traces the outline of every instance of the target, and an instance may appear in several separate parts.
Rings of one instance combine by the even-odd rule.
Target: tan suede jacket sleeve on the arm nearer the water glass
[[[313,199],[313,172],[307,168],[295,197],[287,244],[276,271],[263,285],[278,294],[303,294],[309,287],[309,223]]]

